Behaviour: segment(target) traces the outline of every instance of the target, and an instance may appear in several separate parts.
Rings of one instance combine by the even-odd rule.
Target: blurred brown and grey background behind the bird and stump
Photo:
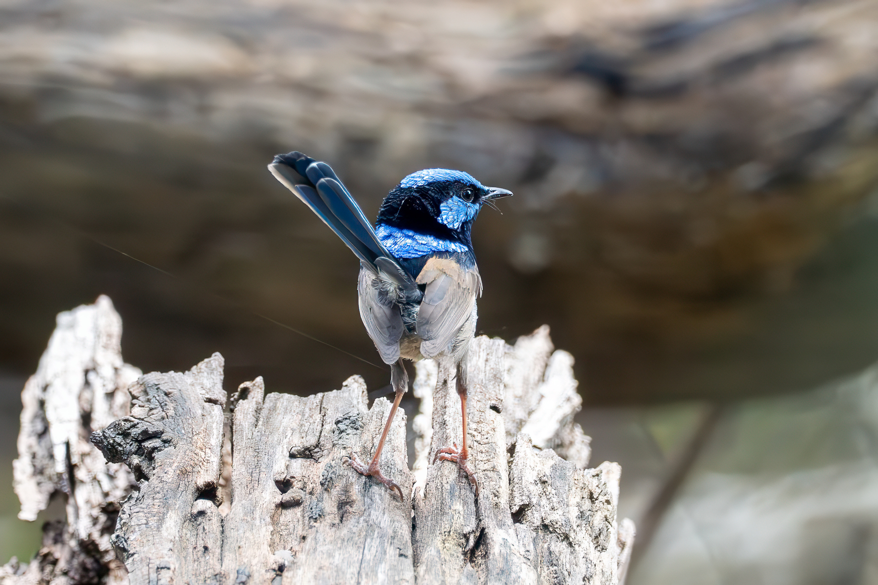
[[[421,168],[515,191],[479,331],[576,356],[630,583],[878,583],[876,59],[872,0],[0,0],[0,562],[61,310],[111,296],[144,371],[386,386],[265,169],[301,150],[369,217]]]

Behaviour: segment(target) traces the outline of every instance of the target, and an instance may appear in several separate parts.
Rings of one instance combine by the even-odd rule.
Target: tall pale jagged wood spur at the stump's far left
[[[127,581],[111,535],[133,474],[106,463],[89,442],[92,431],[129,411],[127,387],[140,370],[122,360],[121,339],[122,319],[106,296],[62,312],[37,372],[25,383],[13,462],[18,517],[35,520],[61,492],[67,523],[47,526],[43,547],[26,570],[6,569],[22,574],[23,582]]]

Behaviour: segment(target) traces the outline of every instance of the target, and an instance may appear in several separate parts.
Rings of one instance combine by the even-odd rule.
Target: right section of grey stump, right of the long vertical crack
[[[623,579],[634,524],[626,518],[620,531],[616,523],[621,469],[606,462],[580,468],[587,464],[590,439],[572,423],[581,406],[572,357],[552,350],[546,326],[515,346],[484,336],[473,342],[466,363],[468,414],[480,494],[474,496],[454,464],[428,467],[422,496],[420,489],[414,496],[419,583]],[[459,403],[448,367],[430,361],[416,367],[416,392],[423,393],[420,383],[439,380],[432,440],[421,436],[416,442],[416,460],[432,460],[437,449],[459,444]],[[529,429],[539,437],[538,446]],[[420,451],[426,445],[428,457]],[[561,459],[553,445],[575,453],[576,460]]]

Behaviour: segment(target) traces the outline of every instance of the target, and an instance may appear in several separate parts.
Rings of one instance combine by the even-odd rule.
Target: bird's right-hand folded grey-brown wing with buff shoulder
[[[473,315],[481,293],[479,271],[464,270],[449,264],[448,259],[430,259],[418,275],[418,283],[427,285],[416,324],[421,353],[432,358],[451,352],[452,342]]]

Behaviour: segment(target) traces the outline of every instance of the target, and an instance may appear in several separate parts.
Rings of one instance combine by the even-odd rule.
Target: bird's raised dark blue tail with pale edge
[[[402,289],[417,290],[414,279],[393,260],[363,210],[327,163],[294,151],[277,154],[269,170],[348,245],[364,267]]]

